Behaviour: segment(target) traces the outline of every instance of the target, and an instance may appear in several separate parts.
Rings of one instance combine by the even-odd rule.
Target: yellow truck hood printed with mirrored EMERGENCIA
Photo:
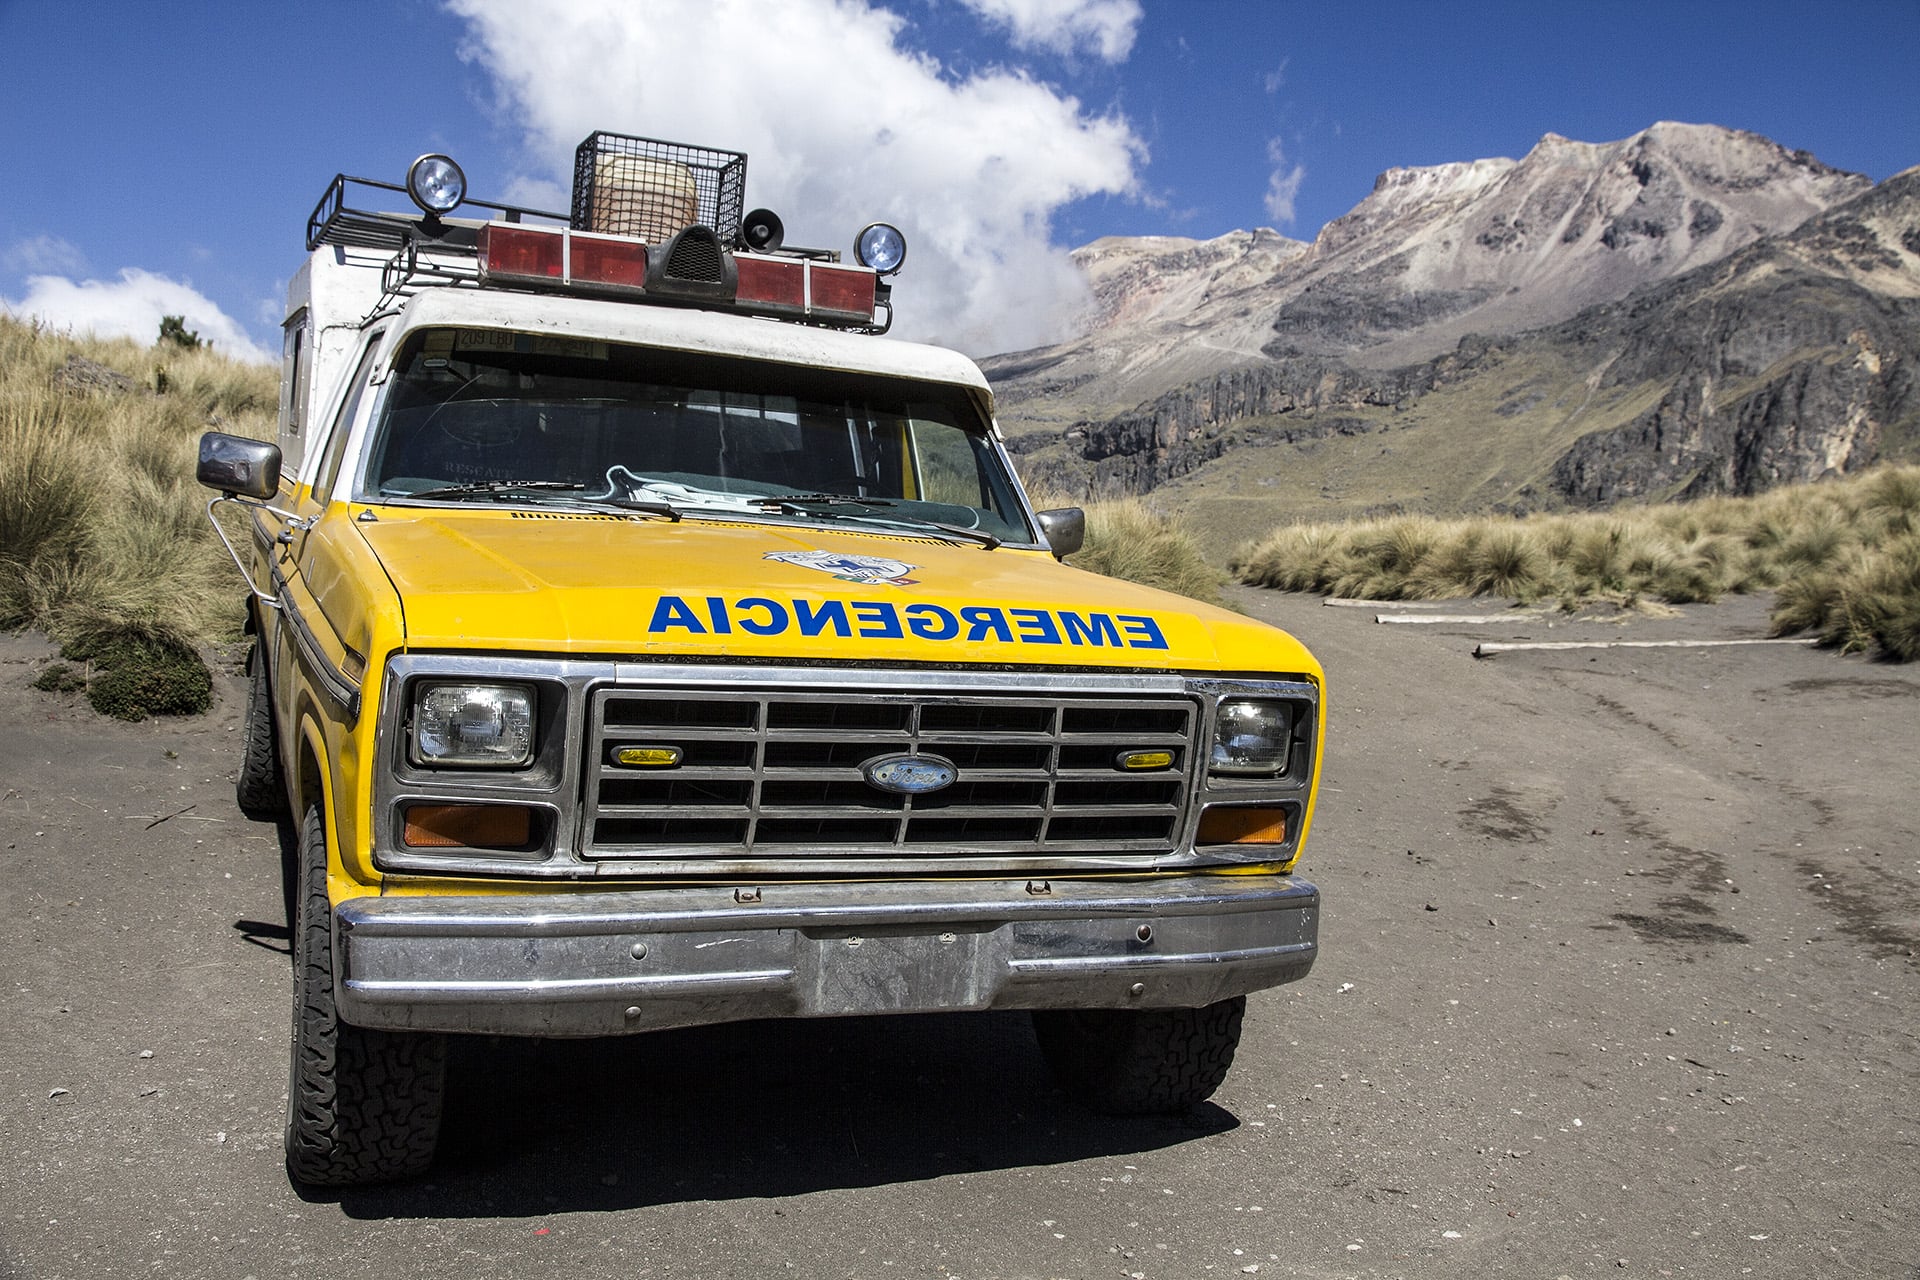
[[[689,516],[372,509],[409,649],[1319,676],[1284,631],[1044,551]]]

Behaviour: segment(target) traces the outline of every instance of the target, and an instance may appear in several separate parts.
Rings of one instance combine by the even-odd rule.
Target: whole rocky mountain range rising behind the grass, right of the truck
[[[1749,491],[1920,436],[1920,171],[1876,188],[1755,134],[1549,134],[1390,171],[1311,246],[1077,257],[1087,332],[987,363],[1014,449],[1223,528]]]

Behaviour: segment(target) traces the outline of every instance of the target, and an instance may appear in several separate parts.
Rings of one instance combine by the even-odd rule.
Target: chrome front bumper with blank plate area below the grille
[[[515,1036],[1196,1007],[1306,977],[1317,944],[1319,890],[1283,875],[392,896],[334,912],[344,1021]]]

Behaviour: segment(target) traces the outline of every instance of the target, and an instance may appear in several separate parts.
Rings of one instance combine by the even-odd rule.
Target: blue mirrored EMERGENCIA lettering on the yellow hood
[[[1073,612],[1071,608],[1002,608],[1000,604],[895,604],[893,601],[774,601],[764,595],[685,599],[662,595],[647,622],[653,635],[837,635],[841,639],[962,641],[979,645],[1085,645],[1091,649],[1165,649],[1150,614]]]

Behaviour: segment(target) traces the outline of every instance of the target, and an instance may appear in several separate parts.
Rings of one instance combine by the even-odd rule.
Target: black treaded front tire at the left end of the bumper
[[[286,1173],[307,1186],[405,1178],[434,1163],[447,1040],[342,1023],[332,940],[326,821],[315,806],[300,823]]]

